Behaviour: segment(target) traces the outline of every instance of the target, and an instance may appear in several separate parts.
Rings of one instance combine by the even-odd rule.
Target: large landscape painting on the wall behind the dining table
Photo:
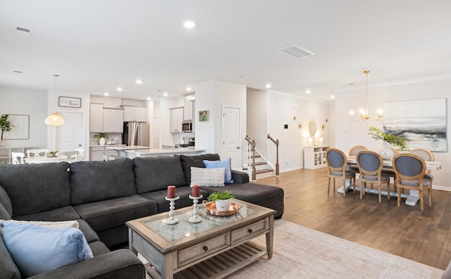
[[[407,138],[409,149],[447,151],[446,99],[383,103],[383,130]]]

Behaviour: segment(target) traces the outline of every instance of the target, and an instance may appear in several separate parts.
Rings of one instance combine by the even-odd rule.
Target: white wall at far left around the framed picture
[[[0,115],[30,116],[28,140],[5,140],[7,147],[47,147],[47,92],[34,89],[0,87]]]

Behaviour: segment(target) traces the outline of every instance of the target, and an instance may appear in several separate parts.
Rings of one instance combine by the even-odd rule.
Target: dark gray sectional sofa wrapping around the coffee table
[[[165,199],[168,185],[175,185],[180,196],[176,208],[191,206],[190,167],[204,167],[204,159],[214,161],[219,156],[174,155],[80,161],[70,165],[0,166],[0,219],[78,220],[94,258],[35,277],[144,278],[144,266],[132,252],[126,249],[110,252],[107,247],[128,241],[126,221],[169,210]],[[202,187],[204,199],[211,192],[230,190],[237,199],[275,209],[276,218],[281,218],[280,187],[248,183],[246,173],[233,171],[232,175],[234,184]],[[7,252],[0,239],[0,255]],[[2,259],[0,273],[4,270],[8,270],[8,261]]]

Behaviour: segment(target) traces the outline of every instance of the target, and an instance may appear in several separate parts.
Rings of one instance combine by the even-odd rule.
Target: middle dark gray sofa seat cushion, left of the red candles
[[[96,231],[124,225],[127,221],[157,213],[156,202],[144,199],[137,194],[89,204],[79,204],[74,208]]]

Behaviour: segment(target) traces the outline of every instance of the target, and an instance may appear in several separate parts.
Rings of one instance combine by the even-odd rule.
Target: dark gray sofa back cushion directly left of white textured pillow
[[[133,164],[138,194],[163,190],[168,185],[175,185],[175,187],[189,185],[183,175],[178,155],[137,157],[133,159]]]

